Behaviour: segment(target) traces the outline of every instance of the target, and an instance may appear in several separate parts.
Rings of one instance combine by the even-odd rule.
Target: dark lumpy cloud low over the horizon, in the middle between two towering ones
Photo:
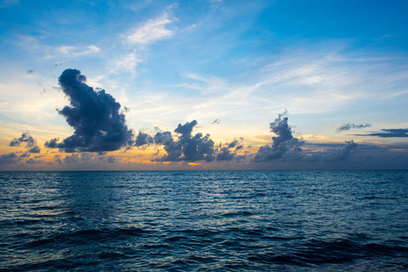
[[[212,161],[215,159],[214,141],[209,139],[209,134],[203,136],[197,133],[192,136],[191,132],[197,125],[197,121],[179,124],[174,132],[179,134],[178,141],[174,141],[170,131],[157,132],[154,136],[156,144],[164,145],[167,155],[154,161]]]

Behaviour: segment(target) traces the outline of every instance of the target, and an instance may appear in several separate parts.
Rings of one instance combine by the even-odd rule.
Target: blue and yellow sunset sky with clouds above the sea
[[[408,169],[407,1],[0,1],[0,170]]]

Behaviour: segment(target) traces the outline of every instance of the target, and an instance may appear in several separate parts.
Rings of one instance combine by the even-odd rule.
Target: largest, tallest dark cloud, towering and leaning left
[[[95,92],[78,70],[67,69],[58,80],[71,105],[57,111],[74,132],[60,143],[56,139],[47,141],[47,147],[65,152],[104,152],[117,151],[130,144],[133,133],[120,112],[121,104],[111,94],[104,90]]]

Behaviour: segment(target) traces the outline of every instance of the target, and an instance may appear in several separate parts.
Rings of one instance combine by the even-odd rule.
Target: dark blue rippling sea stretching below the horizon
[[[1,270],[408,269],[408,171],[1,172]]]

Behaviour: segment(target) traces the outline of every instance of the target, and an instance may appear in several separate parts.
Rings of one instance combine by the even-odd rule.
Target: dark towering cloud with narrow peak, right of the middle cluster
[[[277,134],[272,137],[272,146],[264,145],[259,148],[255,156],[255,161],[277,160],[284,157],[298,160],[302,151],[300,148],[304,141],[295,138],[292,129],[287,124],[287,112],[277,115],[277,119],[269,124],[272,132]]]

